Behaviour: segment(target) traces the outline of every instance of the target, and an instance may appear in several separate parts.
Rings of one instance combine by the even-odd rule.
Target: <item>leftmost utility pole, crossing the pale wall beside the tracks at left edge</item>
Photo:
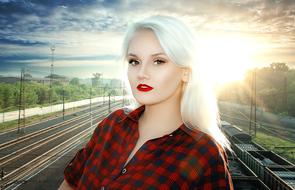
[[[26,98],[25,98],[25,68],[21,70],[20,89],[19,89],[19,107],[18,107],[18,128],[17,133],[24,133],[26,126]],[[22,112],[22,118],[21,118]]]

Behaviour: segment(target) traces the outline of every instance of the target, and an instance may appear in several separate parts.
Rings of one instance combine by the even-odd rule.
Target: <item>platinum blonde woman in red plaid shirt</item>
[[[133,23],[122,55],[137,108],[99,123],[60,189],[233,189],[216,100],[181,21]]]

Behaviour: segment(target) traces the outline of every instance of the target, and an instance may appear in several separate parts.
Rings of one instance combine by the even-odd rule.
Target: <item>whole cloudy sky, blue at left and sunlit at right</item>
[[[55,74],[120,78],[128,24],[156,14],[193,29],[216,80],[273,62],[295,68],[294,0],[0,0],[0,75],[50,74],[54,46]]]

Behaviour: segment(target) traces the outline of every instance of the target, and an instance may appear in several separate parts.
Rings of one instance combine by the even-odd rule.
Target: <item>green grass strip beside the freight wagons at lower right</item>
[[[268,150],[272,150],[280,156],[286,158],[295,164],[295,143],[278,137],[257,132],[256,137],[253,139],[257,144],[262,145]],[[278,148],[278,147],[294,147],[294,148]]]

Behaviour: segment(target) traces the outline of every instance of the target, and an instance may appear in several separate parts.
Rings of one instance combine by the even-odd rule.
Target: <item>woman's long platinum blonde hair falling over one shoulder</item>
[[[132,23],[123,41],[123,61],[126,61],[130,40],[140,29],[152,30],[172,62],[190,72],[181,99],[181,117],[185,126],[209,134],[223,148],[230,149],[229,142],[219,128],[216,97],[201,65],[205,63],[199,63],[196,59],[193,33],[183,22],[168,16],[151,16]]]

